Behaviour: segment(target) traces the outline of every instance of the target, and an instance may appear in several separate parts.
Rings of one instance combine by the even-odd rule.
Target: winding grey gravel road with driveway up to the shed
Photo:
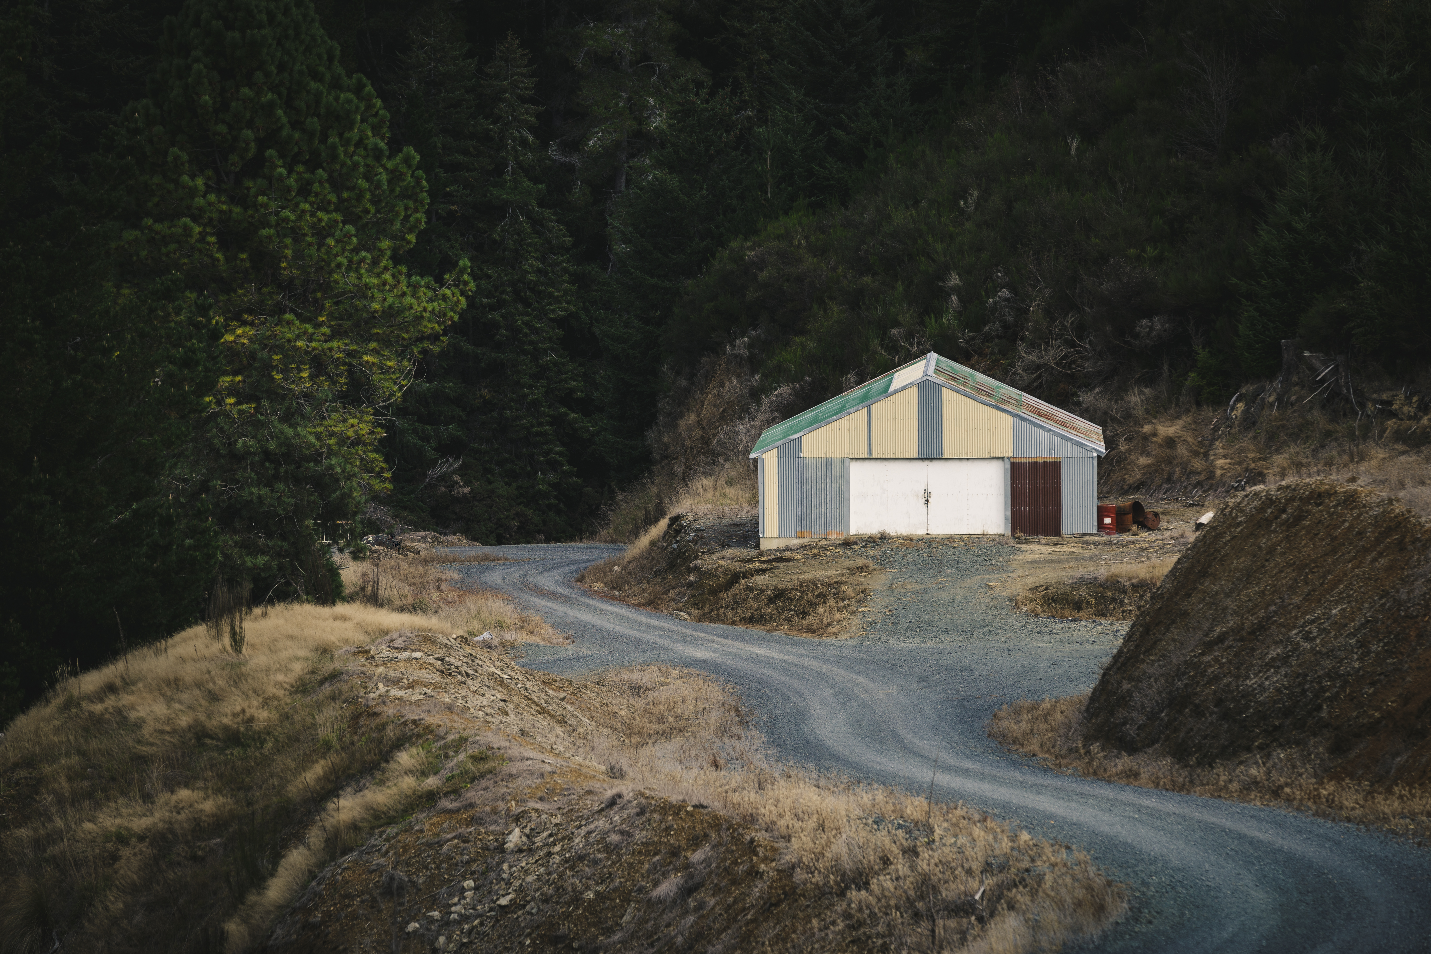
[[[1431,950],[1431,852],[1317,818],[1059,775],[985,735],[1020,697],[1089,689],[1126,624],[1009,606],[1012,548],[860,552],[889,571],[866,635],[811,641],[681,622],[572,584],[621,548],[484,548],[522,562],[454,566],[575,636],[524,665],[582,675],[670,662],[736,684],[786,759],[936,792],[1085,848],[1132,892],[1099,951]],[[995,584],[990,586],[990,584]]]

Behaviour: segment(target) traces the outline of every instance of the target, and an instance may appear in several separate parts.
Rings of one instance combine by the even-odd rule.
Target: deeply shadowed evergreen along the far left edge
[[[62,665],[192,622],[218,558],[202,488],[169,468],[218,376],[205,303],[119,287],[123,182],[90,174],[96,127],[142,89],[145,11],[47,13],[0,27],[0,725]]]

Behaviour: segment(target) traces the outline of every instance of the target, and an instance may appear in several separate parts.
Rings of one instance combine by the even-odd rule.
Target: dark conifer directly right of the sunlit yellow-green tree
[[[425,359],[411,421],[388,442],[395,502],[488,542],[570,536],[580,506],[570,449],[587,428],[574,409],[582,375],[565,350],[571,240],[532,179],[532,67],[508,36],[479,69],[454,30],[451,20],[425,26],[404,84],[424,96],[422,114],[444,143],[434,160],[444,209],[424,255],[471,257],[475,293],[445,349]],[[421,93],[431,76],[472,97]]]

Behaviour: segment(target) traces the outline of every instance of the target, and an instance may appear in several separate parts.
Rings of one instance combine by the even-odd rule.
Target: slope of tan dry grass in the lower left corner
[[[60,679],[0,742],[0,948],[246,947],[416,792],[412,731],[329,681],[335,649],[406,621],[279,606],[242,657],[193,626]]]

